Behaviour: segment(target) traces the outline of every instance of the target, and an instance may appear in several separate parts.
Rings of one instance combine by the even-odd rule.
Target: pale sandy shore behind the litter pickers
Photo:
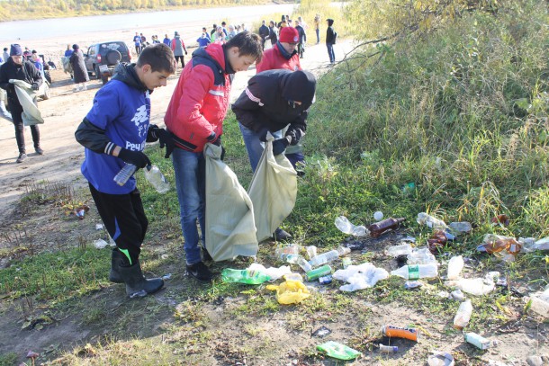
[[[251,20],[247,20],[251,22]],[[187,46],[194,47],[194,30],[200,31],[202,24],[187,24],[183,27],[183,37]],[[166,24],[156,29],[144,29],[144,34],[158,34],[162,39],[166,31],[174,29]],[[181,30],[181,28],[180,28]],[[170,31],[168,34],[171,34]],[[72,34],[67,39],[49,39],[36,41],[30,48],[37,49],[46,58],[51,58],[58,64],[58,58],[67,43],[79,43],[82,49],[99,40],[125,40],[130,46],[133,33],[119,31],[116,33],[97,32]],[[312,35],[311,35],[312,36]],[[195,40],[195,38],[194,38]],[[267,41],[267,43],[269,43]],[[343,57],[344,52],[351,49],[351,42],[341,42],[336,45],[337,58]],[[189,55],[193,49],[189,49]],[[135,56],[133,58],[135,60]],[[188,60],[189,57],[185,58]],[[302,67],[320,75],[329,69],[328,53],[326,46],[310,45],[302,59]],[[101,81],[92,79],[88,84],[88,90],[73,93],[73,84],[67,74],[61,70],[51,73],[53,84],[51,85],[52,97],[47,101],[40,101],[39,108],[45,123],[40,125],[40,146],[45,155],[38,156],[34,153],[31,140],[31,131],[25,131],[25,141],[28,159],[23,164],[16,164],[18,156],[17,144],[14,137],[14,125],[10,121],[0,119],[0,222],[11,210],[10,207],[17,201],[26,187],[32,183],[48,180],[52,182],[73,183],[75,188],[85,185],[85,180],[80,174],[79,168],[84,158],[84,148],[76,143],[74,132],[78,124],[92,106],[94,94],[101,87]],[[247,72],[238,73],[232,86],[231,99],[234,101],[247,85],[247,80],[256,74],[255,66]],[[176,85],[177,77],[170,77],[168,85],[159,88],[151,95],[151,123],[164,126],[164,114],[167,104]]]

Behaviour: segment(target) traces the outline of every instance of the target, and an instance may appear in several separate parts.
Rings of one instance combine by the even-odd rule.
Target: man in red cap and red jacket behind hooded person
[[[272,49],[267,49],[256,66],[257,74],[265,70],[287,68],[297,71],[302,69],[297,45],[300,41],[298,31],[293,27],[284,27],[280,31],[278,42]]]

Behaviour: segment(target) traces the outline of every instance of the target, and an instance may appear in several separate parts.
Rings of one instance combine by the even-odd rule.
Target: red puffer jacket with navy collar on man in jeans
[[[221,136],[233,75],[234,71],[225,67],[222,45],[212,43],[193,52],[191,62],[179,76],[164,117],[177,147],[201,152],[206,142]],[[211,132],[216,137],[208,141]]]

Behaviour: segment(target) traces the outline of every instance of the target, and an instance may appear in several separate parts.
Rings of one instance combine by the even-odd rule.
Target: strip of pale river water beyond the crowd
[[[16,40],[43,40],[65,36],[72,32],[139,31],[157,24],[203,22],[210,29],[211,22],[231,18],[259,18],[271,13],[293,13],[295,4],[270,4],[205,9],[170,10],[166,12],[124,13],[113,15],[80,16],[72,18],[41,19],[32,21],[0,22],[0,42]]]

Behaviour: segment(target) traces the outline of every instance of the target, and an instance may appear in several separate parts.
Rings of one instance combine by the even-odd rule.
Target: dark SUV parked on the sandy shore
[[[112,71],[121,62],[131,62],[130,49],[121,40],[101,42],[91,45],[84,55],[88,75],[101,79],[104,74],[112,76]]]

